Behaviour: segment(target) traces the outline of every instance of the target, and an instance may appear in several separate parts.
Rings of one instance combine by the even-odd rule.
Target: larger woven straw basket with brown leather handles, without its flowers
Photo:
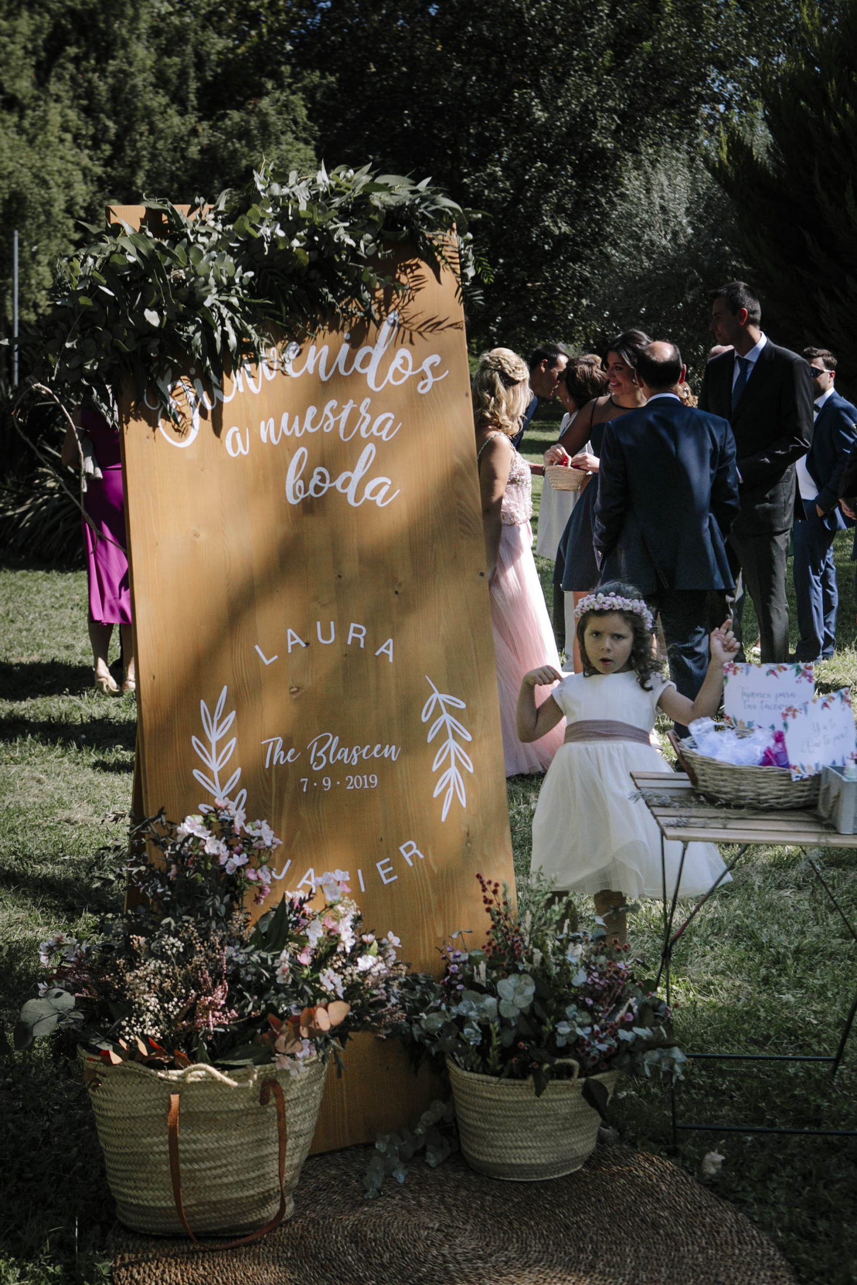
[[[274,1067],[225,1074],[208,1065],[107,1067],[82,1049],[78,1059],[107,1181],[126,1227],[157,1236],[184,1230],[191,1239],[260,1235],[260,1228],[271,1230],[292,1216],[292,1191],[312,1142],[326,1064],[314,1059],[299,1076]]]

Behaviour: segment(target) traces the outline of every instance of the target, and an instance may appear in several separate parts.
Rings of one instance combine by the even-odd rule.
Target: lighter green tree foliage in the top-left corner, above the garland
[[[12,229],[35,316],[80,218],[145,191],[188,202],[247,181],[265,155],[314,163],[314,128],[284,5],[234,0],[8,0],[0,10],[0,308],[9,333]]]

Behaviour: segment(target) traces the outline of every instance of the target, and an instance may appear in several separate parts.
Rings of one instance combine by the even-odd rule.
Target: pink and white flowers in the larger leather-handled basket
[[[93,941],[41,943],[46,977],[15,1046],[66,1033],[109,1064],[298,1072],[335,1058],[353,1031],[388,1033],[401,1020],[401,943],[364,932],[340,870],[251,924],[247,903],[270,897],[279,842],[229,799],[179,825],[159,813],[134,826],[126,911]]]

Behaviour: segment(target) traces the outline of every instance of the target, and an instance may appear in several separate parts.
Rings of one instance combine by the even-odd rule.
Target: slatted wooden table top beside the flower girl
[[[857,848],[857,834],[839,834],[809,808],[731,808],[705,803],[685,772],[631,772],[666,839],[690,843],[764,843],[793,848]]]

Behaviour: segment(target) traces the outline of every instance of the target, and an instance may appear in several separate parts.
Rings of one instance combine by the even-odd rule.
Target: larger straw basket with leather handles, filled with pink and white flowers
[[[131,839],[125,914],[42,943],[15,1043],[77,1043],[123,1223],[254,1239],[293,1209],[329,1059],[400,1015],[400,942],[362,930],[339,870],[252,925],[279,840],[229,801]]]

